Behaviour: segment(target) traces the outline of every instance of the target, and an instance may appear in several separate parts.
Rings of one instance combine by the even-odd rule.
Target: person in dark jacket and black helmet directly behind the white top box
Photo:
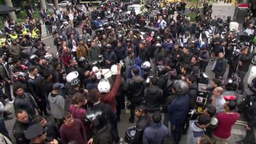
[[[106,52],[103,55],[103,58],[105,60],[105,67],[110,68],[111,65],[116,63],[116,54],[113,52],[113,46],[111,44],[106,45]]]

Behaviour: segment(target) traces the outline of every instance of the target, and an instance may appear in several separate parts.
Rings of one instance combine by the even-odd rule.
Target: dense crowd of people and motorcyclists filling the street
[[[236,112],[237,100],[224,99],[222,81],[237,74],[241,78],[238,91],[249,95],[244,94],[243,80],[255,53],[249,51],[256,43],[252,11],[243,23],[246,42],[241,44],[236,31],[221,33],[231,21],[212,17],[211,4],[203,4],[203,13],[190,9],[196,13],[195,22],[185,14],[185,2],[165,4],[165,9],[159,6],[152,3],[153,16],[136,15],[131,10],[128,18],[122,16],[122,10],[107,6],[99,6],[95,12],[88,12],[88,5],[81,10],[69,6],[67,12],[54,10],[52,16],[41,10],[57,54],[50,54],[54,47],[40,39],[40,22],[29,17],[29,10],[22,25],[4,21],[0,37],[0,85],[4,89],[0,91],[0,141],[122,143],[118,122],[123,120],[122,110],[129,109],[129,122],[135,124],[125,134],[127,143],[170,143],[168,127],[175,144],[180,143],[182,134],[188,134],[189,144],[228,143],[240,114]],[[115,13],[115,18],[109,17],[108,11]],[[74,18],[83,26],[81,36]],[[108,26],[104,26],[106,19]],[[68,23],[61,27],[63,21]],[[56,29],[52,24],[58,25]],[[22,29],[21,38],[13,37],[17,28]],[[211,39],[204,36],[209,29]],[[35,33],[31,37],[28,31]],[[3,40],[8,35],[12,35],[10,42]],[[238,55],[236,49],[240,50]],[[198,88],[199,77],[209,72],[209,65],[215,77],[209,86]],[[189,113],[197,108],[201,89],[208,92],[209,101],[192,120]],[[253,97],[256,79],[248,90]],[[8,116],[12,113],[4,108],[6,100],[15,111],[15,141],[4,122],[12,119]],[[246,113],[250,115],[246,137],[237,143],[256,143],[255,102]]]

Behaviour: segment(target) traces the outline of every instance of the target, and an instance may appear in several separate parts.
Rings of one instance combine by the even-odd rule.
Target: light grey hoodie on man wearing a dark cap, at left
[[[59,119],[63,118],[65,113],[65,99],[59,95],[59,93],[54,93],[54,91],[52,91],[48,95],[48,100],[52,116]]]

